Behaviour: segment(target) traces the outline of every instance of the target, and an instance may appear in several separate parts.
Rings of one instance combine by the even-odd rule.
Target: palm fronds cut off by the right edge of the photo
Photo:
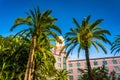
[[[116,35],[116,39],[114,40],[112,44],[111,53],[113,52],[114,52],[114,55],[120,52],[120,35]]]

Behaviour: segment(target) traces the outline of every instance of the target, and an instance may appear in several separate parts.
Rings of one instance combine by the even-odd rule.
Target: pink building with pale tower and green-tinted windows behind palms
[[[70,73],[68,74],[69,80],[80,80],[81,72],[78,68],[85,69],[86,61],[82,60],[72,60],[70,57],[66,59],[66,52],[63,50],[61,54],[59,54],[61,47],[64,46],[64,39],[60,36],[63,43],[56,43],[57,48],[53,49],[54,56],[56,58],[56,68],[57,69],[66,69]],[[91,67],[99,67],[105,65],[105,67],[111,71],[116,72],[116,77],[120,77],[120,56],[117,57],[104,57],[104,58],[94,58],[90,59]]]

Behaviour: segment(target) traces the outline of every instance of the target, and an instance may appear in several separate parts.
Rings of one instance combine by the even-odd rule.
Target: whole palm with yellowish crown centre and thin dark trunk
[[[82,24],[78,24],[76,19],[73,18],[73,22],[77,27],[71,28],[70,32],[66,33],[65,47],[67,49],[67,56],[70,53],[72,54],[72,51],[76,46],[78,46],[78,57],[80,50],[85,51],[88,68],[88,77],[89,80],[93,80],[91,75],[91,65],[89,61],[89,48],[93,45],[97,51],[99,51],[98,47],[100,47],[105,53],[107,53],[106,48],[101,43],[101,41],[110,44],[110,41],[106,38],[106,35],[110,35],[110,32],[98,26],[98,24],[100,24],[103,21],[102,19],[98,19],[92,23],[89,23],[89,20],[90,16],[84,18]]]

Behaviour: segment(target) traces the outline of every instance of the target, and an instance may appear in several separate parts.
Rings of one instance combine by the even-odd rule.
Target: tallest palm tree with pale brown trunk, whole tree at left
[[[50,46],[50,42],[48,41],[48,35],[52,35],[57,41],[60,41],[54,31],[61,33],[61,30],[55,25],[55,21],[57,19],[50,16],[51,12],[51,10],[47,10],[41,14],[39,7],[35,8],[34,10],[30,9],[30,12],[27,13],[27,17],[17,18],[14,25],[10,29],[12,31],[14,28],[22,24],[30,26],[29,28],[17,33],[24,35],[24,33],[27,32],[28,34],[26,35],[26,37],[31,36],[32,38],[24,80],[32,80],[33,78],[32,73],[34,72],[34,52],[37,46],[37,41],[39,41],[39,39],[45,39],[47,41],[46,43],[48,43],[48,46]],[[41,42],[40,44],[44,43]],[[44,46],[39,46],[39,48],[41,47]]]

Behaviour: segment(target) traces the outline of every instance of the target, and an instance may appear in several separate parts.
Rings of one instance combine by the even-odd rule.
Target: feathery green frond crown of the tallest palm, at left
[[[60,28],[55,25],[57,19],[50,16],[51,12],[51,10],[46,10],[41,14],[39,7],[37,7],[37,9],[35,8],[34,11],[30,9],[30,13],[26,13],[27,17],[17,18],[10,30],[12,31],[17,26],[25,24],[31,27],[21,30],[17,34],[23,34],[27,31],[29,32],[29,34],[31,34],[32,37],[34,35],[37,35],[37,37],[39,37],[40,33],[45,36],[45,32],[53,36],[56,35],[50,29],[56,30],[57,32],[61,33]]]

